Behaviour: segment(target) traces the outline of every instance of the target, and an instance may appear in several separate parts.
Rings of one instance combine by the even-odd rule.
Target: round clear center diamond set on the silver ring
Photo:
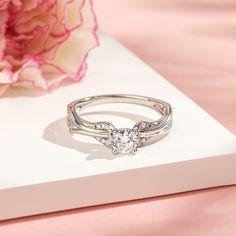
[[[115,153],[132,153],[140,145],[138,134],[132,129],[122,128],[112,134],[112,149]]]

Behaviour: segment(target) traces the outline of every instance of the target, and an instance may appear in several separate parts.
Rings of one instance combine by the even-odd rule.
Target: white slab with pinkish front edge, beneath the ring
[[[80,83],[44,96],[19,93],[15,89],[10,97],[0,99],[1,220],[236,183],[235,136],[105,35]],[[148,95],[170,102],[174,108],[171,133],[140,148],[135,156],[113,156],[92,138],[71,137],[66,105],[107,93]],[[129,113],[136,116],[122,114],[123,105],[115,108],[113,122],[118,127],[153,115],[133,106],[128,107]]]

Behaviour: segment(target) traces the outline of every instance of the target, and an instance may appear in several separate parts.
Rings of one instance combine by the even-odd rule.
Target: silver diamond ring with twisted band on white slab
[[[84,108],[105,103],[132,103],[157,111],[161,118],[148,122],[139,121],[133,128],[117,129],[111,122],[91,122],[81,118]],[[154,138],[162,138],[172,126],[172,107],[169,103],[145,96],[112,94],[75,100],[67,106],[67,125],[71,133],[94,137],[112,149],[113,154],[135,154],[138,147]]]

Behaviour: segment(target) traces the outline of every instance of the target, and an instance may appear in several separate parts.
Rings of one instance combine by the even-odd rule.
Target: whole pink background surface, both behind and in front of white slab
[[[103,29],[236,133],[234,0],[97,0],[95,11]],[[10,235],[234,236],[236,186],[1,223],[0,236]]]

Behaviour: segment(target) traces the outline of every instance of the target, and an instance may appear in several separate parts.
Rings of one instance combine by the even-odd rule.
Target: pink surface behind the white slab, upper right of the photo
[[[103,29],[236,133],[235,0],[97,0],[96,6]]]

